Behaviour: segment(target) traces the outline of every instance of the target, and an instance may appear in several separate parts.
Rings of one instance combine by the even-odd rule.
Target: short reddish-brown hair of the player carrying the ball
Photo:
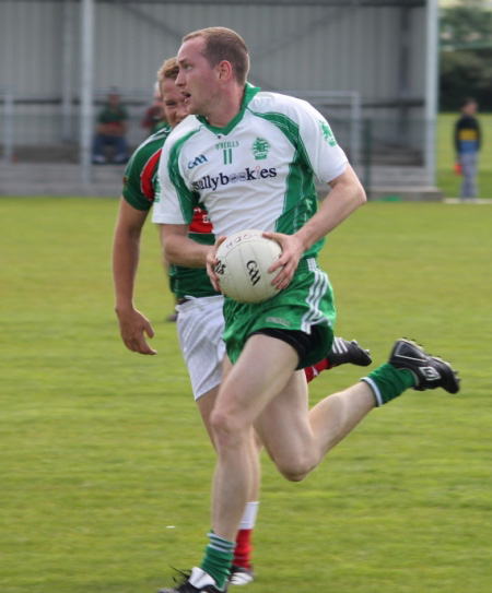
[[[183,41],[202,37],[206,41],[203,57],[211,68],[222,60],[226,60],[233,67],[234,78],[237,83],[246,84],[249,72],[248,48],[241,35],[232,28],[207,27],[188,33]]]

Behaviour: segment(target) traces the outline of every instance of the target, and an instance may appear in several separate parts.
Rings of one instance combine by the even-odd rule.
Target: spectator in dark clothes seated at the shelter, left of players
[[[97,165],[107,163],[107,156],[104,151],[106,146],[114,147],[114,163],[126,163],[128,159],[127,131],[128,111],[120,103],[118,91],[110,88],[107,95],[107,103],[97,116],[93,163]]]

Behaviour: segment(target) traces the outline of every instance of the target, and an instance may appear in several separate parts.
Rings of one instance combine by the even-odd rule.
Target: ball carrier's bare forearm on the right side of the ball
[[[323,201],[319,211],[295,234],[304,251],[337,228],[365,201],[364,188],[355,174],[338,181]]]

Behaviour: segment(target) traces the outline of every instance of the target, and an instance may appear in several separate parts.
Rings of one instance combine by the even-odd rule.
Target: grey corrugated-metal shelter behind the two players
[[[367,190],[433,188],[437,23],[437,0],[0,0],[0,170],[71,164],[93,193],[108,88],[137,145],[163,60],[186,33],[221,25],[246,40],[253,84],[324,112]]]

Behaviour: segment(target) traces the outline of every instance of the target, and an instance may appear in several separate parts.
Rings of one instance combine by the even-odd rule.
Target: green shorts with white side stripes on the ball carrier
[[[234,364],[246,340],[266,328],[300,330],[312,334],[316,327],[314,347],[297,368],[309,367],[327,356],[333,342],[336,318],[333,292],[325,272],[316,260],[301,260],[290,285],[265,303],[249,305],[226,298],[223,339],[227,356]]]

